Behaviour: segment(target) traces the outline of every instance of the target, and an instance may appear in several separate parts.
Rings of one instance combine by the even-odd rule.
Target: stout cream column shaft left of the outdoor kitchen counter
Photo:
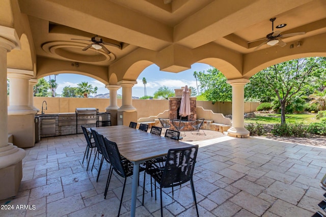
[[[29,80],[34,72],[29,70],[7,69],[9,78],[8,115],[36,114],[30,107]]]

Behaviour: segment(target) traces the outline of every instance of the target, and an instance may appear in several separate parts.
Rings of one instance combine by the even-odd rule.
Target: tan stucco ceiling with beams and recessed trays
[[[286,23],[282,34],[306,32],[284,38],[287,47],[307,37],[326,33],[324,0],[19,0],[28,15],[38,57],[110,66],[139,48],[160,52],[171,45],[196,49],[216,44],[239,54],[270,47],[262,41],[275,26]],[[274,29],[275,31],[276,29]],[[95,35],[102,49],[82,49]],[[278,46],[278,45],[275,45]],[[280,49],[282,49],[280,47]],[[173,68],[171,68],[173,70]]]

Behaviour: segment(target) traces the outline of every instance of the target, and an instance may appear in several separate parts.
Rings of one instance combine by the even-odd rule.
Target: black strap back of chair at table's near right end
[[[170,188],[193,178],[198,145],[170,149],[161,178],[160,186]]]

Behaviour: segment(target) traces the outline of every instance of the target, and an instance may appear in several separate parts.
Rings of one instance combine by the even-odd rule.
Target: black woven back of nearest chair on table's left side
[[[108,153],[108,158],[110,159],[111,165],[113,169],[122,177],[126,178],[125,169],[123,168],[121,155],[118,150],[117,143],[112,142],[106,138],[104,138],[104,146]]]

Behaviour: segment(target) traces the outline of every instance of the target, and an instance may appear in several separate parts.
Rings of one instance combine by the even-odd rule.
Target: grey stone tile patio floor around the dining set
[[[311,216],[319,210],[325,193],[319,182],[326,173],[326,148],[211,135],[186,141],[200,145],[194,173],[200,216]],[[0,201],[13,208],[0,210],[0,216],[116,216],[122,179],[112,178],[104,200],[108,166],[104,164],[96,182],[99,161],[93,171],[86,171],[85,147],[79,134],[42,138],[25,149],[19,193]],[[129,177],[121,216],[130,215],[130,190]],[[159,191],[155,201],[148,176],[144,206],[142,187],[138,192],[136,215],[160,216]],[[165,189],[163,198],[164,216],[196,216],[189,184],[175,188],[174,196]]]

